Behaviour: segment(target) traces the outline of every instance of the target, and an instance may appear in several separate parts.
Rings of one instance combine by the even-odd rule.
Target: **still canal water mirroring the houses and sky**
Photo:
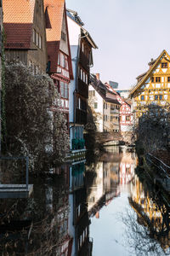
[[[31,183],[29,198],[0,199],[0,255],[170,255],[169,204],[133,148],[105,148]]]

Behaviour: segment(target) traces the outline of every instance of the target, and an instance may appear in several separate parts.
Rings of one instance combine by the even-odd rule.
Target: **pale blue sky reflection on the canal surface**
[[[128,185],[127,185],[128,186]],[[128,190],[128,189],[127,189]],[[120,197],[116,197],[111,204],[103,207],[99,218],[92,218],[90,236],[94,238],[93,256],[133,256],[125,247],[125,224],[122,222],[122,212],[129,206],[126,189]]]

